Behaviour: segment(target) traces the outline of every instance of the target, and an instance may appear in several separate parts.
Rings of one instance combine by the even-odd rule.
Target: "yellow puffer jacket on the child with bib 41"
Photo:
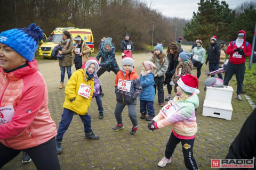
[[[84,80],[84,76],[86,76],[87,81]],[[78,95],[79,87],[81,83],[86,84],[91,87],[91,93],[89,99]],[[79,115],[85,115],[87,113],[88,108],[91,105],[91,99],[94,89],[94,78],[88,80],[88,76],[86,75],[85,69],[79,69],[72,74],[70,79],[68,80],[65,88],[66,98],[63,104],[63,108],[67,108],[71,111]],[[75,98],[74,101],[70,101]]]

